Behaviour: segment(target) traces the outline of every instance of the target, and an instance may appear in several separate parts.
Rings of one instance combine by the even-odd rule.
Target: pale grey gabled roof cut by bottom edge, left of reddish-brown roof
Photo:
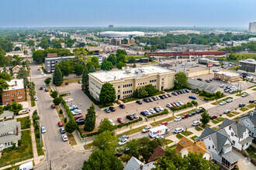
[[[123,168],[123,170],[150,170],[152,168],[156,168],[154,162],[144,164],[143,162],[140,162],[137,158],[132,157],[130,158],[130,161],[126,164],[126,166]]]

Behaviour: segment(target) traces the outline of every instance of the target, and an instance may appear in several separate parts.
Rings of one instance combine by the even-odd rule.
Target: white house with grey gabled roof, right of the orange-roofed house
[[[199,138],[195,138],[195,140],[203,141],[207,151],[212,154],[216,162],[220,162],[220,164],[228,169],[232,169],[237,165],[240,157],[232,151],[233,143],[228,138],[225,130],[215,131],[212,128],[206,127]]]

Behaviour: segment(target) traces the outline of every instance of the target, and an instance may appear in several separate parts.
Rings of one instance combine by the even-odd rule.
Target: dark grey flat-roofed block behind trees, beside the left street
[[[54,56],[54,55],[53,55]],[[74,56],[47,56],[45,60],[45,70],[47,73],[54,73],[55,64],[60,63],[62,60],[74,59]]]

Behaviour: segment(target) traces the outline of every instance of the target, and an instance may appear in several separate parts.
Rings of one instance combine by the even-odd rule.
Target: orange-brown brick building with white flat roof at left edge
[[[24,83],[22,79],[6,81],[9,89],[2,93],[2,104],[12,104],[12,102],[22,102],[25,100]]]

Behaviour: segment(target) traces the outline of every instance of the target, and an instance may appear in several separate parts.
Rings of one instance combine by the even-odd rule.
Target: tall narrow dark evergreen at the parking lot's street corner
[[[87,114],[85,115],[85,131],[93,131],[95,128],[95,121],[96,121],[96,115],[95,115],[95,106],[92,103],[92,106],[87,109]]]

